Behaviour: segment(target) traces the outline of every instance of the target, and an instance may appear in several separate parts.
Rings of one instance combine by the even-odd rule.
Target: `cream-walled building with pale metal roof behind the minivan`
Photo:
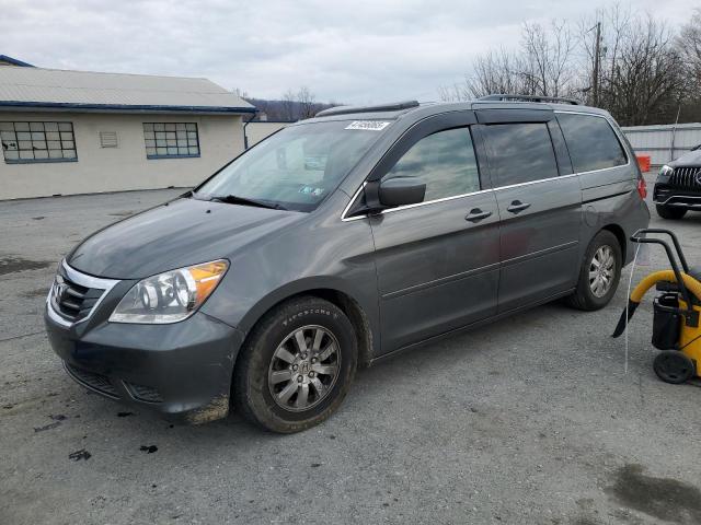
[[[35,68],[0,55],[0,200],[189,187],[255,108],[207,79]]]

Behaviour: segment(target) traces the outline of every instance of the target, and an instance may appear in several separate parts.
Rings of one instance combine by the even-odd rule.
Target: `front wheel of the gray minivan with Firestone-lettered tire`
[[[266,430],[307,430],[338,408],[357,361],[356,334],[341,308],[319,298],[292,299],[268,312],[244,345],[234,406]]]

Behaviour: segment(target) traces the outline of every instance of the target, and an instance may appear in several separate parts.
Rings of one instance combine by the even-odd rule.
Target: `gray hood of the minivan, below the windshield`
[[[183,266],[231,258],[306,213],[182,198],[101,230],[66,258],[79,271],[142,279]]]

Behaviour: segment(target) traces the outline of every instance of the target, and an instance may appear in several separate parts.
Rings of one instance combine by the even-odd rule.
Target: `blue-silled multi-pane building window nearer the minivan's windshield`
[[[199,156],[199,136],[195,122],[145,122],[147,159]]]

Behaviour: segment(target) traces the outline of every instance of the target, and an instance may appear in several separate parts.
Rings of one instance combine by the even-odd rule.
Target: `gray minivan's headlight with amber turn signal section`
[[[165,271],[137,282],[119,301],[111,323],[168,324],[189,317],[229,268],[226,260]]]

